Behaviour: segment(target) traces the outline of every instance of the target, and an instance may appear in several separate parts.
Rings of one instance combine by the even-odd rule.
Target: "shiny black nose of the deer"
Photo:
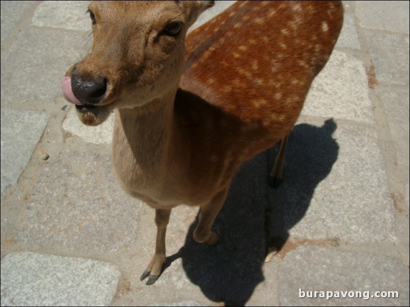
[[[75,69],[71,74],[71,87],[74,95],[84,104],[101,103],[107,91],[106,78],[91,78],[81,80],[80,73]]]

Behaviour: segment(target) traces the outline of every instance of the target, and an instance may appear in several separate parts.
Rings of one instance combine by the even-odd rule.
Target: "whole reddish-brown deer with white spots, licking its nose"
[[[280,183],[288,135],[343,23],[340,1],[238,1],[187,35],[212,6],[93,1],[92,48],[61,80],[83,124],[115,113],[114,173],[155,210],[147,285],[162,273],[174,207],[200,206],[194,240],[214,245],[236,170],[279,142]]]

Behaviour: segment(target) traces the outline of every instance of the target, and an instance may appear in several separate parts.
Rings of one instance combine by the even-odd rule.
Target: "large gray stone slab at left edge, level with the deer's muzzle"
[[[2,61],[2,107],[59,110],[60,80],[86,54],[85,37],[49,29],[21,31]]]

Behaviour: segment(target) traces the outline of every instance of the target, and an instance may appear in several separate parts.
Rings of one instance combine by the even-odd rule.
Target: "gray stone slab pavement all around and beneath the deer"
[[[153,286],[139,277],[154,213],[112,174],[112,121],[81,125],[61,94],[90,45],[86,3],[1,1],[2,306],[409,305],[408,1],[344,2],[283,185],[266,186],[277,147],[247,161],[216,246],[192,239],[198,208],[175,209]],[[263,263],[266,242],[282,249]],[[399,297],[367,299],[377,291]]]

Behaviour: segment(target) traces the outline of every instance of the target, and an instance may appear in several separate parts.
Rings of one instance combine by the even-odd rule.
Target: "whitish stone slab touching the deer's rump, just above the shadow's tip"
[[[333,50],[329,62],[312,83],[302,114],[373,122],[363,63]]]

